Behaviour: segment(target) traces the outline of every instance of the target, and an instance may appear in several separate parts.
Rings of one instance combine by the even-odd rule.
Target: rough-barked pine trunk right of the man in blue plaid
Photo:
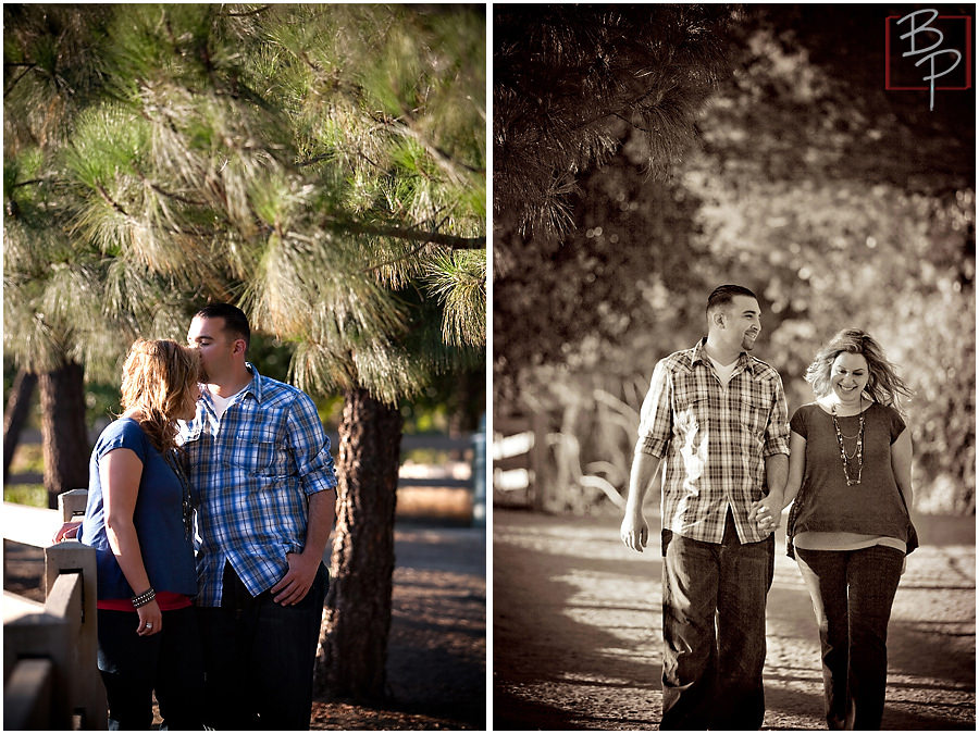
[[[315,686],[334,698],[384,696],[401,414],[348,390],[339,426],[337,518]]]

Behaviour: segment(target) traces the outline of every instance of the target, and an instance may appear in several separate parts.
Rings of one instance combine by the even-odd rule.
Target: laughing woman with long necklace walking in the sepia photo
[[[829,727],[880,729],[888,621],[917,542],[907,510],[910,432],[899,410],[910,393],[858,329],[833,337],[806,381],[816,401],[790,421],[789,555],[819,624]]]

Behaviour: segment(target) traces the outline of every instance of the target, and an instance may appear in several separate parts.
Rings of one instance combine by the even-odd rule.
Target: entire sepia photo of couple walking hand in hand
[[[494,730],[974,730],[975,5],[492,13]]]

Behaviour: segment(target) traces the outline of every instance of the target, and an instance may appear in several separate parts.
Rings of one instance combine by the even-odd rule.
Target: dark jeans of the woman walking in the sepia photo
[[[796,548],[822,646],[830,729],[880,729],[888,684],[888,622],[904,553]]]

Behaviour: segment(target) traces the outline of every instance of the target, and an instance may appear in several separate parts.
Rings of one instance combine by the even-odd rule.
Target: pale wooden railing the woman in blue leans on
[[[58,510],[3,502],[3,538],[45,549],[44,605],[3,593],[3,729],[104,729],[98,674],[96,555],[77,540],[50,545],[61,523],[84,512],[85,489]]]

